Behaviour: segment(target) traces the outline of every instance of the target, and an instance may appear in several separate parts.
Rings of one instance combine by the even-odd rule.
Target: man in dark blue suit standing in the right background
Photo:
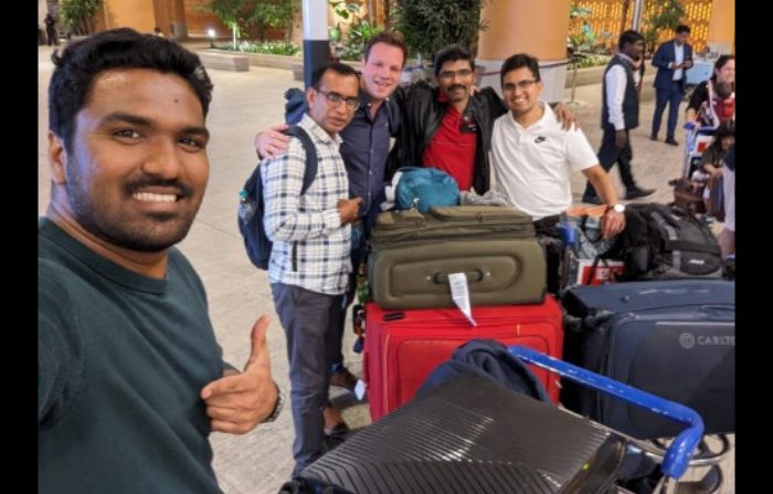
[[[679,104],[685,96],[687,70],[692,66],[692,46],[687,43],[689,36],[690,28],[685,24],[678,25],[674,40],[658,46],[653,57],[653,66],[657,67],[654,84],[657,102],[655,104],[655,115],[653,115],[653,134],[649,138],[657,140],[663,111],[666,109],[666,104],[668,104],[666,144],[673,146],[679,145],[674,139],[674,129],[676,129],[676,123],[679,118]]]

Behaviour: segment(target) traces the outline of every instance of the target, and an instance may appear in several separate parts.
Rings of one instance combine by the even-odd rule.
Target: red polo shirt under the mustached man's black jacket
[[[437,168],[454,177],[459,190],[473,188],[477,125],[473,117],[465,120],[453,105],[448,106],[441,126],[424,149],[422,165]],[[465,132],[462,132],[462,128]]]

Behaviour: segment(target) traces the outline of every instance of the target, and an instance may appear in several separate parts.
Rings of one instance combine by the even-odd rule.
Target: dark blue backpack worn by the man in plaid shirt
[[[290,125],[285,130],[288,136],[297,137],[306,153],[306,170],[304,171],[304,185],[300,188],[303,196],[317,176],[317,148],[311,137],[297,125]],[[273,242],[268,240],[263,225],[265,206],[263,203],[263,180],[261,179],[261,164],[258,162],[252,175],[239,192],[239,231],[244,238],[244,248],[250,261],[260,270],[268,269]]]

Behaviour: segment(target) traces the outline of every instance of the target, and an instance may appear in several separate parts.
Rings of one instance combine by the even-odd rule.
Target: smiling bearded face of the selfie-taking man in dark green
[[[180,76],[107,70],[75,118],[72,149],[50,133],[53,201],[104,242],[160,252],[188,233],[209,178],[201,102]]]

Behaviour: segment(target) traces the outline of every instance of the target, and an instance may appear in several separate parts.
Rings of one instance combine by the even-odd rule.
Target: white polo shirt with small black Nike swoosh
[[[496,190],[534,221],[560,214],[572,204],[572,172],[599,164],[582,130],[562,130],[550,105],[542,118],[523,128],[512,113],[497,118],[491,136]]]

